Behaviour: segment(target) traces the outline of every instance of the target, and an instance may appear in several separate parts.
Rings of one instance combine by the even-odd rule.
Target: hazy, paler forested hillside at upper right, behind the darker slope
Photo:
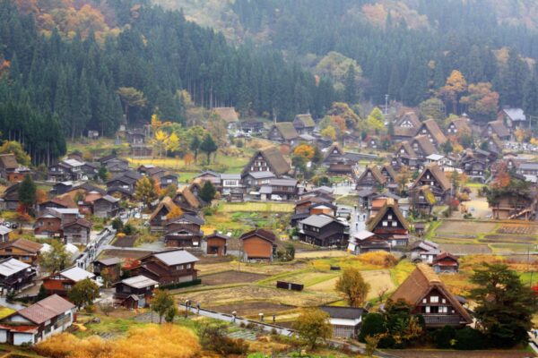
[[[213,1],[173,3],[195,18],[196,4]],[[389,94],[416,106],[459,70],[469,83],[492,83],[500,105],[532,109],[537,1],[235,0],[217,10],[224,33],[270,42],[314,72],[330,52],[355,60],[360,92],[376,104]]]

